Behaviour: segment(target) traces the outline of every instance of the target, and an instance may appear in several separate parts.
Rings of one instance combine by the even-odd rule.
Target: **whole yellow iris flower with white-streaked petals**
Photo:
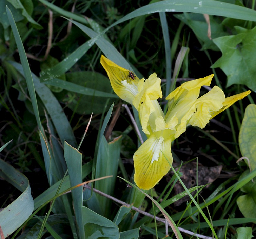
[[[170,170],[169,162],[173,162],[172,141],[185,132],[186,127],[192,125],[204,128],[210,119],[251,92],[225,98],[223,91],[214,86],[211,91],[198,98],[200,88],[210,85],[212,74],[185,82],[171,92],[166,97],[168,111],[164,115],[157,101],[162,98],[162,91],[161,79],[156,73],[144,80],[104,56],[101,56],[100,62],[115,93],[134,105],[139,112],[142,131],[147,140],[133,156],[134,181],[139,188],[145,190],[153,188]]]

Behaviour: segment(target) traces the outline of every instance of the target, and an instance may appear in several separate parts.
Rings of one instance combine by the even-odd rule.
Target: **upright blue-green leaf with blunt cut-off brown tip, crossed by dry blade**
[[[70,185],[73,187],[82,183],[82,154],[65,141],[64,157],[67,163]],[[83,188],[74,188],[71,193],[78,232],[80,239],[83,239],[85,238],[82,217]]]

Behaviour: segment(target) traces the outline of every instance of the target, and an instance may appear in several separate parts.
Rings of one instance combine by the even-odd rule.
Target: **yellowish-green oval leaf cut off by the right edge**
[[[243,157],[247,157],[251,170],[256,168],[256,105],[249,104],[239,132],[239,147]],[[246,163],[247,160],[245,160]]]

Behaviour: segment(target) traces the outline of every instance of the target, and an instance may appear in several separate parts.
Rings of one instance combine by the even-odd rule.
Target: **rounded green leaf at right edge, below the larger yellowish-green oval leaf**
[[[255,170],[254,170],[255,171]],[[249,173],[249,170],[245,171],[241,177],[244,177]],[[240,177],[240,178],[241,178]],[[241,191],[246,193],[237,198],[237,205],[244,217],[253,218],[256,215],[256,182],[249,181],[243,187]]]

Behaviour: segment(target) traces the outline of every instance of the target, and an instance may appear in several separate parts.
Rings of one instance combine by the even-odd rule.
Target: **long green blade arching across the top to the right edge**
[[[123,18],[113,23],[111,26],[107,27],[100,34],[91,30],[92,32],[96,33],[96,36],[91,40],[85,42],[79,48],[77,48],[70,56],[66,57],[59,64],[55,65],[50,69],[47,69],[46,71],[42,71],[40,73],[41,80],[47,81],[64,74],[88,51],[88,49],[91,48],[91,46],[97,40],[99,40],[113,26],[138,16],[143,16],[143,15],[152,14],[156,12],[192,12],[192,13],[203,13],[203,14],[231,17],[231,18],[243,19],[243,20],[249,20],[249,21],[256,21],[256,11],[249,8],[241,7],[241,6],[230,4],[230,3],[224,3],[220,1],[180,0],[179,2],[170,2],[166,0],[166,1],[160,1],[157,3],[152,3],[149,5],[140,7],[139,9],[136,9],[135,11],[127,14]],[[75,21],[72,21],[72,22],[75,23]],[[78,25],[80,23],[76,22],[75,24]],[[102,48],[101,50],[103,51]],[[129,63],[127,63],[124,59],[121,59],[122,60],[121,62],[115,61],[115,59],[112,58],[112,56],[115,57],[115,54],[111,54],[111,56],[108,56],[107,54],[105,55],[110,60],[114,62],[118,62],[119,65],[124,68],[130,67]],[[118,58],[120,57],[118,56]]]

